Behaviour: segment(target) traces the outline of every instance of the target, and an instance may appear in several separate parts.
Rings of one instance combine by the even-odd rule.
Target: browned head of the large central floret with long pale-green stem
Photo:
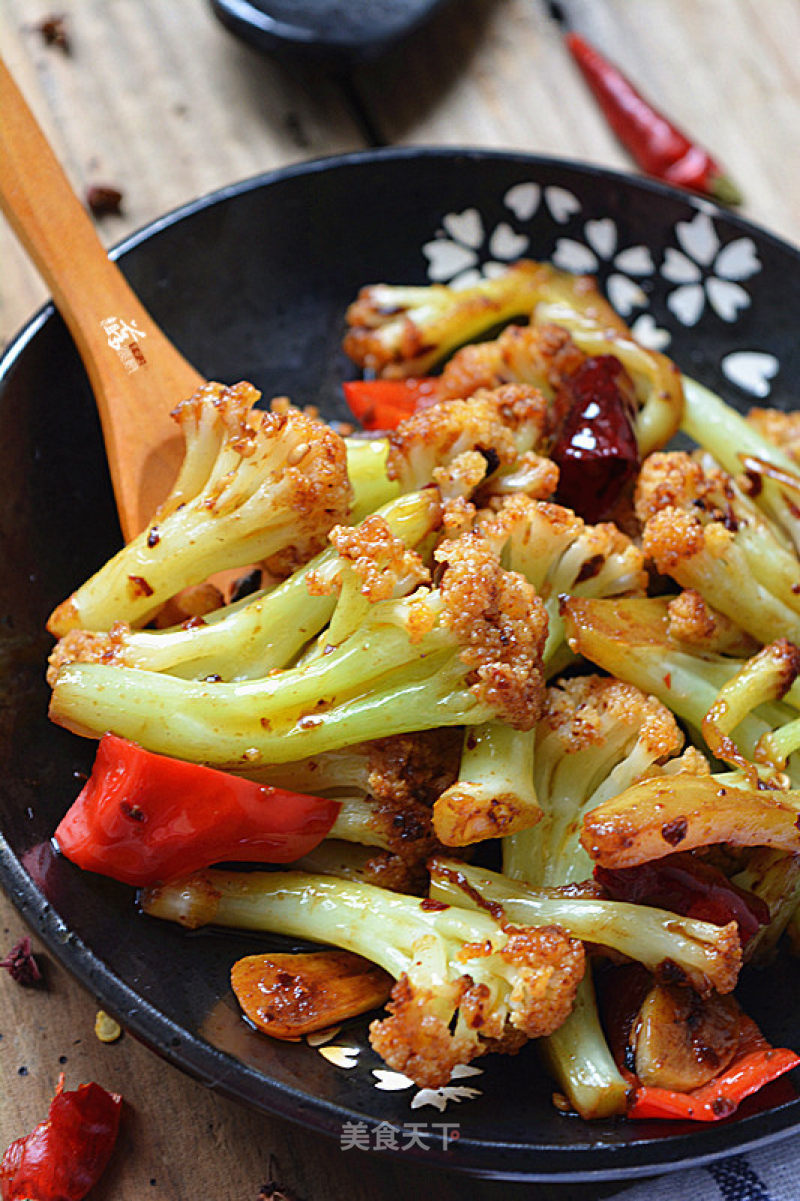
[[[435,558],[444,567],[443,620],[461,644],[473,693],[514,729],[532,729],[544,701],[542,600],[523,575],[501,568],[477,533],[443,542]]]

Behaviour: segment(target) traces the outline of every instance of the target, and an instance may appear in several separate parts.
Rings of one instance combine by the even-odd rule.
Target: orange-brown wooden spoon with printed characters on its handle
[[[38,268],[89,375],[126,538],[144,528],[181,458],[169,412],[202,376],[156,325],[72,191],[0,60],[0,208]]]

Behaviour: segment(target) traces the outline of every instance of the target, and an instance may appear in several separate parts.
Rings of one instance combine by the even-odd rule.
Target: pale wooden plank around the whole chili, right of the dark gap
[[[645,95],[728,168],[742,214],[800,243],[800,11],[792,0],[562,0]],[[446,6],[358,86],[383,137],[506,147],[634,169],[545,0]],[[793,132],[794,131],[794,132]]]

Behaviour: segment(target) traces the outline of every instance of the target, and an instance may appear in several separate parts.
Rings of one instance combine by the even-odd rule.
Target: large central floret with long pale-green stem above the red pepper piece
[[[54,681],[50,716],[76,733],[114,730],[227,770],[495,717],[530,729],[543,691],[542,602],[476,533],[440,545],[436,557],[437,586],[408,597],[370,603],[342,588],[328,631],[292,668],[228,682],[71,663]],[[365,609],[357,626],[356,602]]]

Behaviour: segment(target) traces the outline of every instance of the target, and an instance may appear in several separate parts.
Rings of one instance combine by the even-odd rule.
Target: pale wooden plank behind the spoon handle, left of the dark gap
[[[44,46],[48,0],[5,0],[0,53],[73,187],[109,183],[123,215],[106,245],[187,201],[274,167],[360,149],[326,72],[295,71],[232,37],[205,0],[65,0],[72,50]],[[46,291],[0,223],[0,346]]]

